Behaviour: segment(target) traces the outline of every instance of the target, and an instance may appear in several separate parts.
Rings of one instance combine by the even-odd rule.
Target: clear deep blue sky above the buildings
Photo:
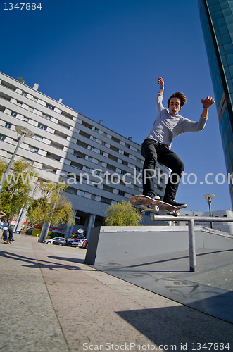
[[[44,0],[41,10],[6,4],[0,0],[1,72],[39,84],[39,92],[134,142],[143,142],[156,118],[158,77],[164,106],[184,92],[182,115],[190,120],[199,120],[201,99],[214,96],[197,0]],[[189,175],[177,201],[208,211],[203,195],[215,194],[212,209],[229,210],[216,106],[205,129],[180,135],[172,150]]]

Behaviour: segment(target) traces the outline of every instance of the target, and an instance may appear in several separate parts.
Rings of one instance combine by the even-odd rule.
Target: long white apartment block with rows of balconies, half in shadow
[[[8,161],[17,144],[15,126],[34,137],[20,144],[17,157],[30,161],[39,177],[65,180],[75,225],[67,231],[102,224],[111,204],[142,193],[141,145],[38,91],[0,73],[0,158]],[[159,174],[162,177],[159,177]],[[168,169],[157,165],[155,191],[163,196]],[[143,225],[151,224],[150,214]]]

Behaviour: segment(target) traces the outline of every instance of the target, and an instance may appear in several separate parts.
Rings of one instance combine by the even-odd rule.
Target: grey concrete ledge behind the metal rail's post
[[[233,249],[233,236],[217,230],[195,226],[195,237],[196,249]],[[91,231],[85,263],[119,263],[180,251],[189,251],[187,226],[101,226]]]

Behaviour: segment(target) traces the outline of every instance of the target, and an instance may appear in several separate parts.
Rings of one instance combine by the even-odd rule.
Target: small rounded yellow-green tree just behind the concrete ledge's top
[[[141,215],[137,214],[137,210],[130,202],[122,201],[122,203],[112,204],[106,211],[106,226],[139,226]]]

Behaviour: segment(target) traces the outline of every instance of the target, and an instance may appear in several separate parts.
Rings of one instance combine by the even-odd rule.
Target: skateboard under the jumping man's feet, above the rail
[[[137,207],[138,214],[151,210],[153,210],[155,213],[158,213],[159,211],[165,211],[165,213],[167,213],[168,215],[174,216],[178,216],[180,213],[180,208],[177,208],[176,206],[171,206],[170,204],[164,203],[163,201],[155,201],[149,196],[132,196],[130,198],[130,203],[133,206]]]

